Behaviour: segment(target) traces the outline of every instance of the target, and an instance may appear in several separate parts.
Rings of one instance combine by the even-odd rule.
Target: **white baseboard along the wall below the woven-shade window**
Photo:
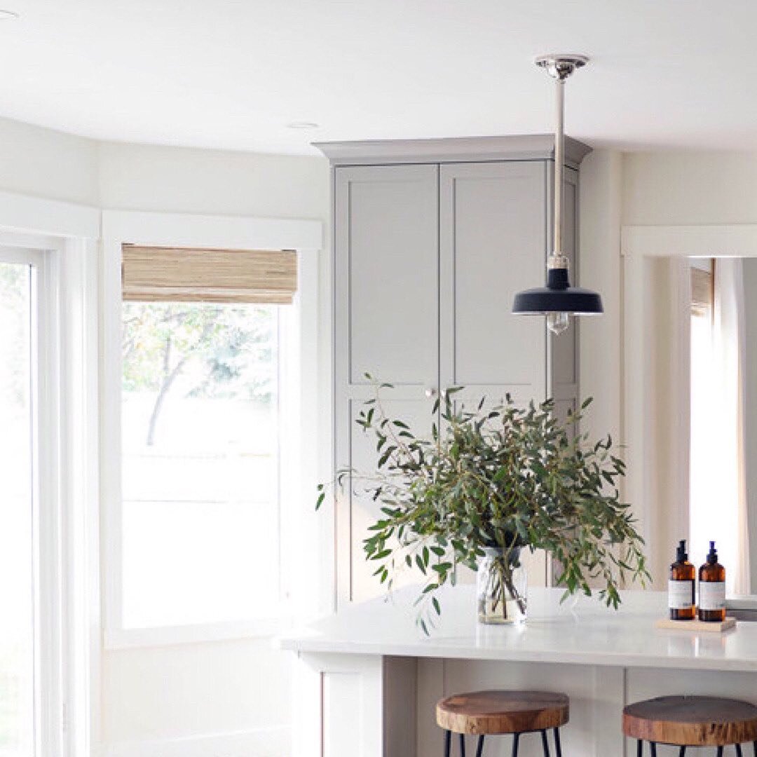
[[[289,757],[291,728],[200,734],[176,739],[103,744],[100,757]]]

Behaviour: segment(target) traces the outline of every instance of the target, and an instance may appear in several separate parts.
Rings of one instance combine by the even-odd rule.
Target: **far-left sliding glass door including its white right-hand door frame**
[[[0,246],[0,754],[59,753],[55,376],[45,253]],[[40,323],[44,326],[40,327]]]

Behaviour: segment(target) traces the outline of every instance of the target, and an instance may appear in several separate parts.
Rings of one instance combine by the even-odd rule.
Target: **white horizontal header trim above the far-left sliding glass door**
[[[0,228],[56,237],[97,239],[100,210],[60,200],[0,192]]]

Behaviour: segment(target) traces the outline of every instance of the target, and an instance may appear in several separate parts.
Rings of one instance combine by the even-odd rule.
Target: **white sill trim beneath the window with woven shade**
[[[284,618],[201,623],[198,625],[160,626],[156,628],[106,628],[105,650],[126,650],[146,646],[173,646],[232,639],[270,637],[287,625]]]

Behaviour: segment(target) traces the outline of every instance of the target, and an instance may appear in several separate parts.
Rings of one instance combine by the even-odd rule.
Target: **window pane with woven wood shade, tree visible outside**
[[[293,253],[123,250],[124,630],[272,618]]]

